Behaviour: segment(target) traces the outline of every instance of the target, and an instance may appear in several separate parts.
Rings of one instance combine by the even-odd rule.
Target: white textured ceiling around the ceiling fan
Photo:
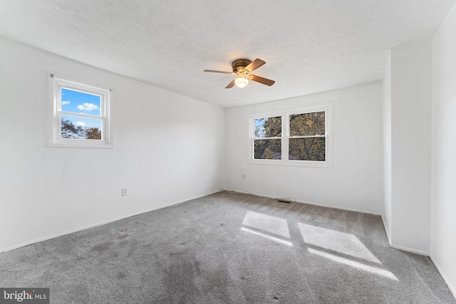
[[[0,36],[232,107],[381,80],[388,49],[430,36],[455,0],[1,0]],[[224,87],[238,58],[268,87]],[[238,99],[239,98],[239,99]]]

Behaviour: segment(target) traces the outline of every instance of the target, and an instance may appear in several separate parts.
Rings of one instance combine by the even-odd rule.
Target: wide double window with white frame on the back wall
[[[250,162],[331,167],[330,117],[331,103],[251,116]]]

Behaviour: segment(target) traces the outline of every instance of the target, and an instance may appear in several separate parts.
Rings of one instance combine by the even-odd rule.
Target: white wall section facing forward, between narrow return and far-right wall
[[[391,50],[391,245],[429,254],[430,39]]]

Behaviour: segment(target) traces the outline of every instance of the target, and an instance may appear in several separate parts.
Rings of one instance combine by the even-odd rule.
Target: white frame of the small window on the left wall
[[[111,93],[112,90],[68,80],[68,78],[63,78],[54,73],[48,73],[48,77],[51,109],[49,110],[48,122],[48,147],[113,148],[113,123],[110,119],[110,109],[113,98]],[[94,118],[93,115],[86,115],[83,113],[63,112],[61,103],[62,88],[100,96],[100,116],[95,117],[101,120],[101,140],[63,138],[61,136],[62,115]]]

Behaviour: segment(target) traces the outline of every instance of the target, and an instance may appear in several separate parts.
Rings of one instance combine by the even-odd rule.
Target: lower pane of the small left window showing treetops
[[[62,138],[79,140],[101,140],[101,120],[62,115]]]

